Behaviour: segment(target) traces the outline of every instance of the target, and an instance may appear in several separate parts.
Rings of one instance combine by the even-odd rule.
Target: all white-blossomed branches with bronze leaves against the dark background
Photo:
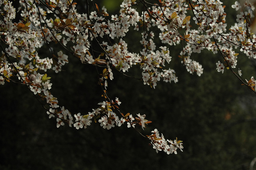
[[[181,47],[180,62],[189,73],[198,76],[204,69],[192,58],[193,53],[205,49],[221,54],[224,64],[218,60],[216,70],[222,73],[227,68],[242,76],[239,68],[234,71],[238,65],[237,50],[248,58],[256,58],[256,36],[252,32],[254,6],[248,0],[232,5],[240,13],[230,28],[226,28],[226,13],[220,0],[159,0],[155,4],[124,0],[119,14],[111,16],[94,0],[86,2],[85,13],[80,13],[76,9],[78,4],[72,0],[19,0],[17,9],[11,1],[0,0],[0,84],[18,82],[28,86],[34,95],[46,101],[42,105],[49,118],[56,117],[57,127],[67,123],[76,129],[87,128],[94,120],[106,129],[122,124],[144,129],[150,123],[146,115],[122,114],[119,99],[113,101],[107,95],[108,81],[114,79],[113,69],[124,74],[138,66],[141,80],[152,88],[160,80],[178,82],[175,70],[170,68],[174,57],[171,46]],[[20,12],[18,22],[14,22],[16,11]],[[160,47],[153,32],[156,29]],[[124,41],[131,30],[141,32],[140,52],[129,51],[129,44]],[[97,46],[92,46],[93,43]],[[48,51],[42,54],[40,49],[46,48]],[[50,92],[52,83],[46,72],[61,72],[70,57],[96,66],[102,86],[105,101],[84,115],[70,113]],[[256,91],[253,77],[246,82],[246,86]],[[168,154],[183,148],[177,140],[164,140],[157,130],[148,138],[156,150]]]

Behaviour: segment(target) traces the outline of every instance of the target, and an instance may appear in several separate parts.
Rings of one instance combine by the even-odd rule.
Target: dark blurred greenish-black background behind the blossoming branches
[[[97,1],[113,14],[119,2]],[[234,13],[230,8],[234,1],[225,3],[226,12]],[[227,15],[229,26],[235,20],[233,13]],[[138,48],[140,37],[140,33],[132,31],[123,38],[130,51]],[[131,42],[138,44],[130,45]],[[198,77],[189,74],[180,63],[180,45],[169,49],[172,61],[168,66],[176,71],[177,84],[160,81],[153,89],[114,71],[108,93],[113,99],[120,98],[123,113],[146,114],[152,121],[144,131],[139,129],[143,134],[157,128],[166,139],[178,137],[184,141],[183,152],[157,154],[148,145],[149,140],[126,126],[106,130],[93,122],[87,129],[76,130],[67,125],[56,128],[56,119],[48,118],[26,86],[6,82],[0,86],[0,169],[249,170],[256,157],[255,94],[229,70],[217,72],[215,63],[222,60],[220,54],[205,50],[193,54],[192,58],[204,67],[204,74]],[[40,53],[45,51],[41,49]],[[242,78],[249,80],[256,67],[252,60],[240,55],[238,67]],[[52,77],[51,91],[60,105],[73,114],[86,114],[103,100],[96,69],[80,64],[72,56],[69,61],[62,72],[47,73]],[[134,66],[128,75],[140,77],[141,71]]]

